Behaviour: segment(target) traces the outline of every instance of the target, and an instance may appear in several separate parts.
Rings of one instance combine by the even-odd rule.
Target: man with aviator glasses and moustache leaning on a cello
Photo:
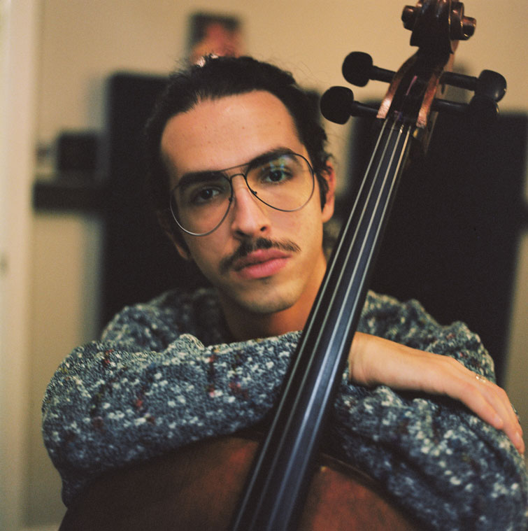
[[[152,197],[213,288],[124,309],[61,364],[43,432],[66,505],[108,469],[270,411],[324,275],[334,207],[309,109],[289,74],[249,58],[208,59],[171,79],[147,129]],[[417,302],[371,293],[324,446],[423,525],[521,529],[522,432],[493,378],[462,323],[440,327]]]

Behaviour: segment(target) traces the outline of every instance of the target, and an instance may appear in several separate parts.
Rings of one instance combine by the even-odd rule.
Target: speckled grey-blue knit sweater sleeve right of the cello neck
[[[382,318],[383,317],[383,318]],[[371,325],[369,326],[368,321]],[[415,301],[367,302],[363,327],[448,355],[494,379],[492,359],[463,323],[440,327]],[[377,330],[376,330],[377,329]],[[326,441],[433,530],[525,530],[525,461],[504,432],[446,397],[364,388],[343,379]]]

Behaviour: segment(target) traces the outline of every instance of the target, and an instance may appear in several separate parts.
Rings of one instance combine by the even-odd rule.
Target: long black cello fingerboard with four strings
[[[413,127],[385,120],[350,216],[341,229],[285,382],[275,418],[250,474],[233,529],[291,530],[308,488],[322,427],[366,297]]]

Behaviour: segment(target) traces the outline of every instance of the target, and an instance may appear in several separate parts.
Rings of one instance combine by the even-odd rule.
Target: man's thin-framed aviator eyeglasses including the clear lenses
[[[259,201],[283,212],[294,212],[310,201],[313,169],[297,153],[271,153],[248,164],[183,175],[171,192],[171,212],[187,234],[206,236],[216,230],[233,203],[233,179],[241,176]]]

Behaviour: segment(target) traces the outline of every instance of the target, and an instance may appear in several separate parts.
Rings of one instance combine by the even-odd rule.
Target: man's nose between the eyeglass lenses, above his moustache
[[[231,206],[231,230],[238,236],[258,237],[269,229],[266,205],[259,201],[245,182],[243,175],[231,180],[234,204]]]

